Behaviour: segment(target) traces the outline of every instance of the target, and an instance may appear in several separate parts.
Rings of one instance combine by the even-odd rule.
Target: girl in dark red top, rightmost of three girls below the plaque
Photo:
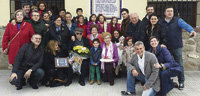
[[[108,29],[107,32],[110,32],[113,34],[115,30],[121,30],[120,24],[118,23],[117,17],[112,17],[110,23],[108,23]]]

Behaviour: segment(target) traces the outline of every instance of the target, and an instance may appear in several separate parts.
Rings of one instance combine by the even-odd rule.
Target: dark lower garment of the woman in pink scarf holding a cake
[[[113,63],[104,64],[105,73],[103,73],[103,81],[114,83],[114,66]]]

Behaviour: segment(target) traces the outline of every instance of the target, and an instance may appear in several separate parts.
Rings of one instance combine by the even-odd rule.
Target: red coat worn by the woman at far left
[[[25,43],[29,43],[32,35],[34,34],[32,25],[25,21],[21,23],[19,30],[21,30],[20,33],[10,43],[8,49],[9,64],[14,63],[15,56],[17,55],[21,46]],[[8,47],[8,42],[12,40],[12,38],[19,32],[19,30],[17,30],[17,24],[15,25],[13,25],[12,23],[7,24],[5,33],[3,35],[2,50],[5,50]]]

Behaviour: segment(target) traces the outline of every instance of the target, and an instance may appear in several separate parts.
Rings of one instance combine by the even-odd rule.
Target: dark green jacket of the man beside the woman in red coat
[[[47,44],[47,27],[40,20],[36,22],[31,19],[27,22],[31,23],[35,34],[42,36],[41,45],[45,46]]]

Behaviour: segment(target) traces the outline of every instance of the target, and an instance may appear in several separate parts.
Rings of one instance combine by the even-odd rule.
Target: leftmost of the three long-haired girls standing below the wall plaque
[[[92,26],[92,24],[97,24],[99,26],[99,33],[102,32],[101,25],[100,25],[100,23],[97,22],[96,19],[97,19],[97,16],[95,14],[92,14],[90,16],[90,21],[88,22],[88,25],[87,25],[87,34],[91,34],[90,27]]]

